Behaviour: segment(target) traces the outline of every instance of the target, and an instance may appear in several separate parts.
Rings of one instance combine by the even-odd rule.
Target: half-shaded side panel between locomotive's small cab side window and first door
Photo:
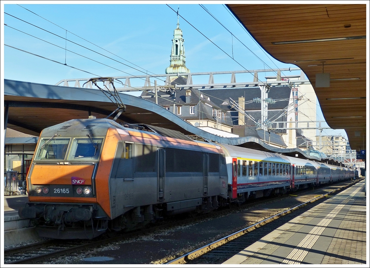
[[[135,172],[157,171],[157,146],[135,144]]]

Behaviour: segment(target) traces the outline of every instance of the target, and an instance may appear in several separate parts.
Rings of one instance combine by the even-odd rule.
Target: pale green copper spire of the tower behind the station
[[[179,28],[179,16],[177,16],[177,28],[172,39],[170,65],[166,68],[166,73],[189,73],[190,70],[185,66],[185,48],[182,30]]]

